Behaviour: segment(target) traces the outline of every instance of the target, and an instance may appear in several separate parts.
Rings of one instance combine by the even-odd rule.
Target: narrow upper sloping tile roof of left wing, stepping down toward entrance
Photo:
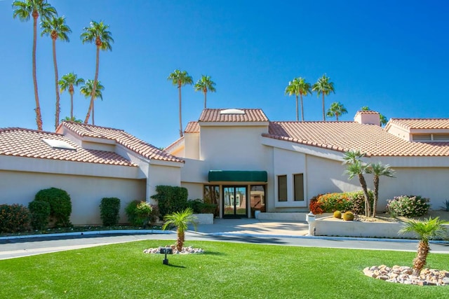
[[[141,139],[138,139],[123,130],[68,121],[62,122],[61,125],[80,137],[94,137],[114,140],[117,144],[121,144],[122,146],[125,146],[131,151],[138,153],[147,159],[184,162],[184,160],[176,158],[174,155],[170,155],[166,151],[162,151],[159,148],[156,148],[156,146],[152,146],[151,144],[148,144],[147,142],[142,141]]]

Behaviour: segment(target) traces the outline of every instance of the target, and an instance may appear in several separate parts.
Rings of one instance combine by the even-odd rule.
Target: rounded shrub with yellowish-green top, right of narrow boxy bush
[[[145,201],[133,200],[125,209],[128,221],[133,226],[145,226],[156,222],[159,217],[159,209]]]

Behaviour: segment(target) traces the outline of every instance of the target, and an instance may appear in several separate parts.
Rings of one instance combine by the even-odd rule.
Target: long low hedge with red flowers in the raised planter
[[[368,195],[368,200],[373,205],[373,191],[368,190]],[[309,209],[313,214],[333,213],[334,211],[365,214],[365,197],[363,191],[320,194],[311,198]]]

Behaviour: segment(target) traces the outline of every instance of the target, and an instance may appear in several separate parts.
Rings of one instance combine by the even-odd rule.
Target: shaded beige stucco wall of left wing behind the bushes
[[[0,204],[18,203],[27,207],[39,190],[51,187],[69,193],[72,200],[70,221],[74,225],[100,224],[99,205],[103,197],[120,198],[121,223],[127,222],[126,204],[145,199],[145,180],[0,170]]]

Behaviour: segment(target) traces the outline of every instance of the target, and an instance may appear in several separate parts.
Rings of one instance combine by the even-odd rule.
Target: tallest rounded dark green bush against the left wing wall
[[[55,221],[55,226],[69,227],[70,214],[72,214],[72,202],[70,195],[65,190],[48,188],[40,190],[34,197],[36,201],[50,204],[50,218]]]

